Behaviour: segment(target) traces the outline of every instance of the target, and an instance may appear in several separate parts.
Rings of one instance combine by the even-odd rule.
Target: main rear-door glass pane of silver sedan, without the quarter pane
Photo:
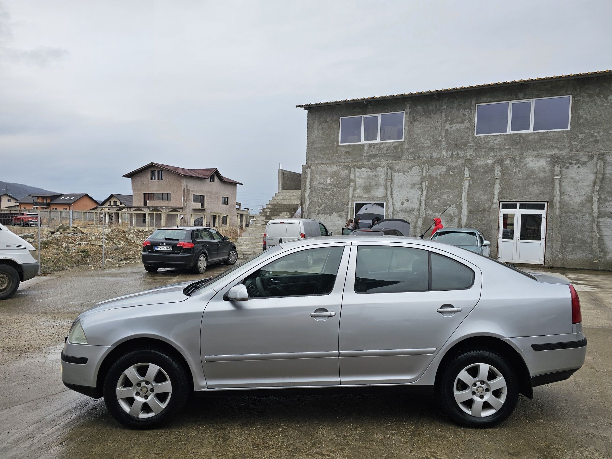
[[[427,250],[408,247],[357,247],[355,291],[389,293],[428,289]]]

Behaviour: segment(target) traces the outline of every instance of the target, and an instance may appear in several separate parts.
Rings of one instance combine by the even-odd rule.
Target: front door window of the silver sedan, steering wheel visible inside
[[[344,247],[301,250],[279,258],[248,275],[242,283],[250,298],[311,296],[331,293]]]

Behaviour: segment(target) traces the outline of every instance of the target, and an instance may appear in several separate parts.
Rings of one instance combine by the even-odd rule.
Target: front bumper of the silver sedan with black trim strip
[[[112,346],[75,345],[66,341],[61,354],[64,386],[89,397],[101,397],[101,387],[97,387],[98,371],[104,357],[112,350]]]

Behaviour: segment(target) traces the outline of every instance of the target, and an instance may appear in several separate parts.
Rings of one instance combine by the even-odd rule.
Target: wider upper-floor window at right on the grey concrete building
[[[476,105],[476,135],[570,129],[572,96]]]

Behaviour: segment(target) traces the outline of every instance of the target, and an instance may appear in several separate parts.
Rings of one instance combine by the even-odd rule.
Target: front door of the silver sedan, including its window
[[[207,386],[340,384],[338,329],[349,247],[294,248],[220,288],[202,319]],[[247,286],[248,300],[224,299],[239,283]]]

